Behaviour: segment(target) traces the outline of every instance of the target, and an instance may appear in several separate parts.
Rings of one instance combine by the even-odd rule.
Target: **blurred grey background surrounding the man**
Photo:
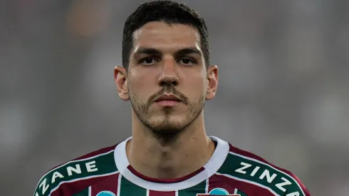
[[[125,19],[143,1],[0,1],[0,195],[130,136],[118,98]],[[349,1],[187,0],[206,19],[219,92],[209,135],[349,195]]]

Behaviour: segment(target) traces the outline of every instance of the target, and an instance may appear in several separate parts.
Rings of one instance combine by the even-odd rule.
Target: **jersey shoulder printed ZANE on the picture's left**
[[[95,150],[46,172],[36,185],[34,196],[48,196],[64,187],[65,191],[80,191],[90,186],[99,177],[117,172],[114,161],[116,145]],[[69,192],[71,195],[74,192]],[[58,194],[63,195],[63,194]]]

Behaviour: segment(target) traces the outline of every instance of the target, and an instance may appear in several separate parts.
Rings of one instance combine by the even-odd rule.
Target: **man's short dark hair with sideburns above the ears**
[[[209,35],[204,19],[194,9],[175,1],[160,0],[143,3],[125,21],[123,29],[123,67],[128,68],[133,47],[133,32],[152,21],[169,25],[185,24],[194,27],[200,34],[200,46],[205,66],[209,67]]]

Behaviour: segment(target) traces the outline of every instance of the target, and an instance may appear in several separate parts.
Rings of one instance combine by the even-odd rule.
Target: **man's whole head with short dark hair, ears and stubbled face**
[[[184,4],[152,1],[127,18],[123,33],[123,68],[115,68],[120,98],[151,130],[183,130],[217,91],[204,20]]]

